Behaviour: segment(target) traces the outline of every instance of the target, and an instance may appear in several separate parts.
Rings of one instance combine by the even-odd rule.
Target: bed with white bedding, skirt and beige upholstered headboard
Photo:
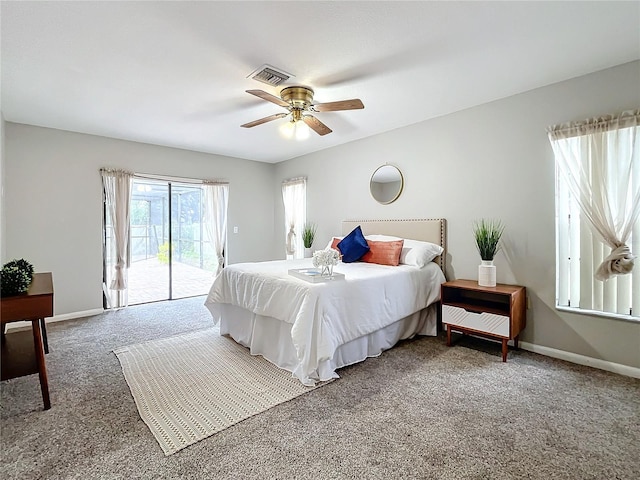
[[[378,356],[402,339],[436,335],[445,281],[445,220],[344,221],[342,234],[357,226],[367,240],[430,242],[442,253],[420,268],[339,263],[334,271],[344,278],[320,283],[288,273],[312,267],[312,259],[230,265],[216,277],[205,301],[220,334],[305,385],[338,378],[339,368]]]

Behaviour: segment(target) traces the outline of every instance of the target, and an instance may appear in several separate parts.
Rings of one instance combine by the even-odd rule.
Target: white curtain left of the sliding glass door
[[[124,170],[100,170],[106,208],[105,283],[103,290],[109,307],[128,304],[129,203],[133,173]]]

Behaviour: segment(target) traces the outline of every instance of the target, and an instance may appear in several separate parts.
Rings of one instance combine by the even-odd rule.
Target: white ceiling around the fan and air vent
[[[279,162],[640,58],[640,2],[7,2],[7,121]],[[333,133],[288,140],[263,64]]]

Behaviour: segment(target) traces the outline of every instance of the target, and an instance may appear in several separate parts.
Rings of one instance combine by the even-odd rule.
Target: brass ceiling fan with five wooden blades
[[[263,123],[271,122],[272,120],[277,120],[291,114],[292,123],[295,124],[296,122],[303,121],[318,135],[326,135],[327,133],[331,133],[332,130],[316,117],[305,112],[337,112],[339,110],[357,110],[364,108],[364,105],[358,98],[340,100],[338,102],[313,103],[313,90],[309,87],[303,86],[283,88],[280,91],[280,98],[263,90],[247,90],[247,93],[284,107],[289,112],[276,113],[259,120],[254,120],[253,122],[240,125],[244,128],[262,125]]]

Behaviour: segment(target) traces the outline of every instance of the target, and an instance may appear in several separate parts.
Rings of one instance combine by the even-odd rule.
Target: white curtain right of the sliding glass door
[[[215,271],[215,275],[218,275],[225,265],[229,184],[204,181],[202,188],[204,190],[204,224],[218,259]]]

